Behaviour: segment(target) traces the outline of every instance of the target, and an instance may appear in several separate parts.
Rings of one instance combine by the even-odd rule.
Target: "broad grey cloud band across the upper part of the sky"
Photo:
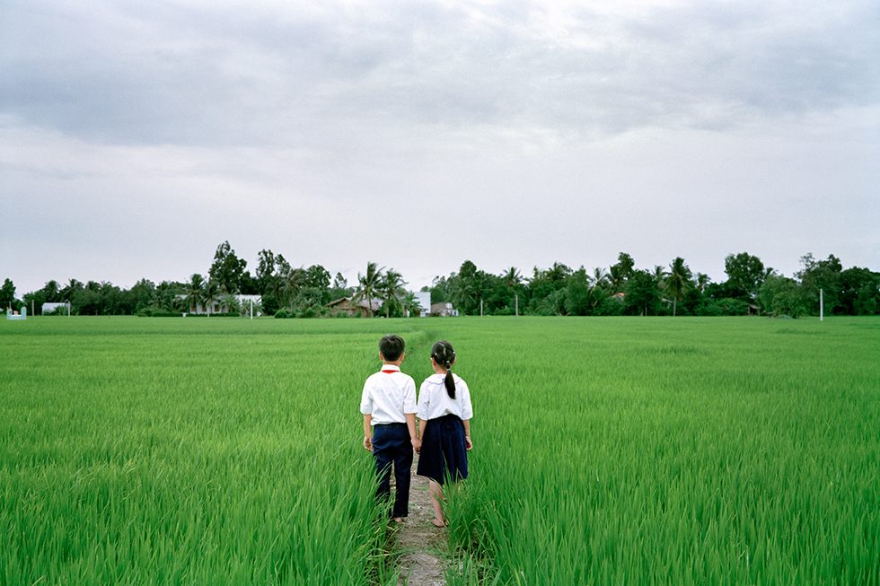
[[[587,47],[536,34],[532,4],[520,3],[484,8],[485,22],[420,3],[40,5],[6,10],[0,107],[110,143],[321,147],[364,120],[380,133],[729,127],[873,103],[880,87],[869,4],[810,36],[762,4],[632,20],[582,10],[573,33]]]

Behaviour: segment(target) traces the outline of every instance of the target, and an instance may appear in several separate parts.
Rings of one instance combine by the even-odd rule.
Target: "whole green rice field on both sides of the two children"
[[[475,418],[450,583],[880,584],[880,319],[0,323],[0,584],[392,584],[385,333]]]

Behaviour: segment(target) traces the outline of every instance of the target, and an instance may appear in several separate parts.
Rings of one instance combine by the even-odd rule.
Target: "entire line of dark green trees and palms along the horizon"
[[[681,257],[668,266],[638,268],[626,252],[611,267],[568,267],[556,262],[533,267],[523,275],[509,267],[499,275],[483,271],[471,260],[458,271],[436,276],[430,286],[432,302],[452,302],[464,315],[747,315],[801,317],[819,312],[823,292],[827,315],[880,313],[880,273],[863,267],[844,268],[840,258],[807,254],[794,276],[782,276],[747,252],[725,258],[726,280],[712,282],[694,272]],[[141,279],[130,289],[109,282],[71,279],[48,281],[40,290],[15,297],[6,278],[0,287],[0,307],[31,305],[40,312],[44,302],[66,302],[75,315],[179,315],[198,307],[219,308],[224,315],[246,313],[237,294],[261,296],[257,308],[277,317],[330,315],[328,303],[342,297],[364,302],[368,313],[398,317],[418,312],[415,293],[393,268],[368,262],[355,284],[321,265],[294,267],[281,254],[260,250],[253,274],[228,241],[216,248],[207,275],[189,281],[154,284]],[[423,308],[428,309],[428,308]],[[66,312],[66,309],[64,310]]]

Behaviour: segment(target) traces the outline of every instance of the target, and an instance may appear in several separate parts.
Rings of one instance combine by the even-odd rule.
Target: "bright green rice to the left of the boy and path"
[[[381,324],[24,324],[0,332],[0,583],[396,582],[352,416]]]

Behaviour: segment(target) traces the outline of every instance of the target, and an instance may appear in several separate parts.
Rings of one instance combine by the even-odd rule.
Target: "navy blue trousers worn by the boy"
[[[391,498],[393,464],[396,490],[392,517],[406,517],[409,514],[409,469],[412,468],[412,443],[407,424],[374,425],[373,457],[379,477],[376,498],[380,501]]]

